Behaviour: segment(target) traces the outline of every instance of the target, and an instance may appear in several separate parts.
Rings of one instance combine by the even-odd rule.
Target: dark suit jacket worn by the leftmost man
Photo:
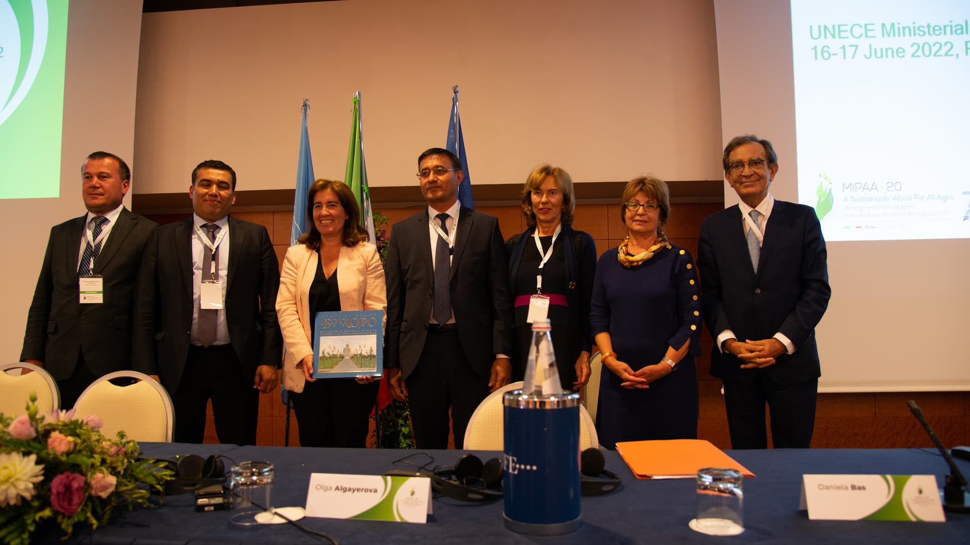
[[[105,302],[81,305],[78,254],[85,215],[50,229],[48,250],[27,314],[21,360],[44,362],[51,376],[65,380],[78,364],[78,351],[95,375],[132,369],[131,323],[142,251],[155,222],[121,208],[94,273],[104,277]]]

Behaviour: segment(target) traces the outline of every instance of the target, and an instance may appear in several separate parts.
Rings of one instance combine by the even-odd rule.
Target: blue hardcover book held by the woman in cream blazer
[[[317,312],[313,378],[353,378],[384,373],[384,312]]]

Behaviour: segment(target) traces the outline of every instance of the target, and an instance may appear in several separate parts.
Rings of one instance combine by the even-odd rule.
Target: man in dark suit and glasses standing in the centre
[[[409,395],[417,448],[448,447],[449,408],[462,448],[475,407],[511,376],[499,220],[461,206],[462,176],[450,151],[422,153],[418,178],[428,208],[394,225],[387,251],[385,367],[391,394]]]

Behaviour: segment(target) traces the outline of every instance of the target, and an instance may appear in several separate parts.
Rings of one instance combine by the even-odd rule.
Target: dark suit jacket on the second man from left
[[[193,218],[162,225],[148,239],[139,289],[135,369],[158,374],[178,389],[192,329]],[[225,315],[241,372],[279,367],[282,337],[276,323],[279,262],[262,225],[229,216],[229,272]]]

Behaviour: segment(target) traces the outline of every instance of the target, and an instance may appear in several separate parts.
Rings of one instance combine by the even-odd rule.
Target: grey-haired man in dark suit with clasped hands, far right
[[[724,380],[731,448],[808,448],[822,370],[815,326],[831,291],[815,209],[776,201],[771,143],[739,136],[725,178],[741,202],[704,218],[697,267],[704,320],[715,338],[711,374]]]

